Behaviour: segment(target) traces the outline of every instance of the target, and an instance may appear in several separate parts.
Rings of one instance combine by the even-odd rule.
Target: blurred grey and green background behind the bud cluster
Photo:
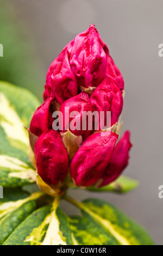
[[[19,57],[15,53],[15,62],[17,59],[21,64],[15,72],[22,69],[23,74],[21,83],[18,78],[15,81],[32,90],[40,100],[53,59],[76,34],[87,29],[90,23],[96,25],[124,77],[123,130],[131,130],[134,145],[124,174],[139,180],[140,187],[125,196],[85,191],[75,191],[75,196],[79,199],[96,196],[113,203],[142,224],[157,244],[163,245],[163,199],[158,197],[158,187],[163,185],[163,57],[158,56],[158,45],[163,43],[163,1],[1,0],[1,4],[7,14],[12,14],[10,22],[20,27],[22,45],[27,42],[27,46],[33,45],[28,52],[18,48]],[[3,23],[0,26],[4,31]],[[8,36],[5,34],[7,43],[10,35],[13,36],[10,28]],[[0,39],[3,41],[2,34]],[[16,41],[11,38],[10,41],[16,48]],[[32,65],[33,68],[22,73],[27,64],[24,54],[31,62],[28,68]],[[5,51],[3,59],[5,61]],[[77,212],[65,203],[62,208],[68,214]]]

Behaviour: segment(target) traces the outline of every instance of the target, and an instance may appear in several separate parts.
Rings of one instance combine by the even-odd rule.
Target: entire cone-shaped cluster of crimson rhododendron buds
[[[115,133],[123,107],[124,82],[94,25],[74,38],[47,72],[44,102],[36,109],[30,132],[35,144],[37,172],[53,186],[70,175],[77,186],[104,186],[115,180],[127,166],[131,143],[129,131],[116,145]],[[68,112],[65,110],[68,107]],[[52,113],[60,111],[63,128],[54,131]],[[72,111],[77,112],[70,117]],[[83,130],[84,112],[111,112],[111,124],[102,130]],[[78,123],[67,132],[65,124]],[[92,122],[95,120],[93,119]],[[112,127],[115,126],[115,132]],[[93,126],[94,127],[94,126]]]

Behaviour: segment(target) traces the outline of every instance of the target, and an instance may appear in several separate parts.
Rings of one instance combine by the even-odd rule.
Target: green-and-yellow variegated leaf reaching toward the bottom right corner
[[[153,245],[151,237],[120,210],[99,199],[87,199],[82,204],[85,218],[92,218],[118,245]]]

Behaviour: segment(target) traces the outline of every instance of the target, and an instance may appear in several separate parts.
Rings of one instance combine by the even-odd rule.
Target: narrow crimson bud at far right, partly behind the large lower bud
[[[124,168],[126,168],[131,147],[130,132],[126,131],[112,152],[110,162],[101,176],[102,183],[100,186],[107,185],[117,179]]]

